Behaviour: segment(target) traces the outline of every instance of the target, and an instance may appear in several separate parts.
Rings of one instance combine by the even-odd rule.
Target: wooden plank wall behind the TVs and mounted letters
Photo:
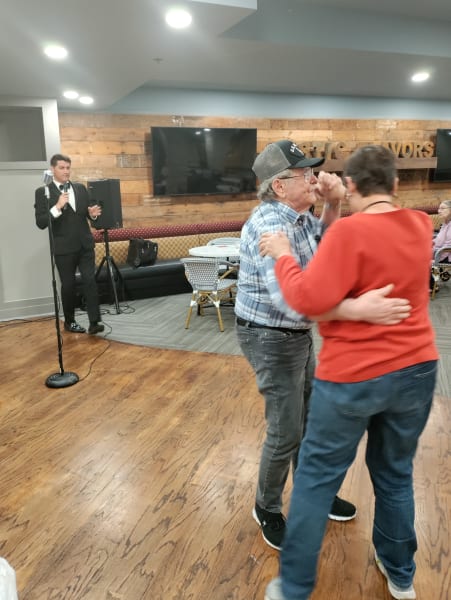
[[[61,151],[72,158],[74,180],[86,183],[93,179],[120,179],[124,227],[244,220],[256,205],[254,194],[153,197],[150,127],[174,126],[171,115],[60,113],[59,122]],[[344,157],[350,147],[367,143],[426,141],[435,147],[436,130],[451,126],[449,122],[433,120],[222,117],[185,117],[183,125],[256,128],[258,151],[283,138],[299,145],[307,142],[307,146],[316,146],[318,152],[326,143],[340,142],[345,147]],[[417,162],[422,163],[422,168],[399,172],[398,202],[403,206],[436,206],[442,199],[450,198],[450,184],[429,182],[427,166],[431,161]]]

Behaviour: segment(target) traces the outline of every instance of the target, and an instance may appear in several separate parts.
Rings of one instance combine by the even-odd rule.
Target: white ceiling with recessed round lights
[[[451,100],[451,0],[2,0],[0,95],[105,110],[141,87]],[[64,62],[43,54],[67,47]],[[410,75],[431,72],[414,85]],[[62,98],[75,88],[83,108]],[[433,116],[433,115],[432,115]]]

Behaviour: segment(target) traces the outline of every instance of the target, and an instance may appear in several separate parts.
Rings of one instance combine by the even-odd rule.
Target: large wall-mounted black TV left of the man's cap
[[[152,127],[155,196],[254,192],[256,129]]]

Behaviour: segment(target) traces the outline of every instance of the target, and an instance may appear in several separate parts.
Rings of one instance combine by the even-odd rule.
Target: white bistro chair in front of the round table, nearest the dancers
[[[233,302],[236,292],[236,281],[223,279],[219,275],[220,264],[224,259],[218,258],[181,258],[185,267],[185,275],[188,279],[193,293],[185,321],[185,329],[189,328],[193,308],[197,306],[199,315],[207,304],[216,308],[218,315],[219,330],[224,331],[221,316],[221,301]]]

